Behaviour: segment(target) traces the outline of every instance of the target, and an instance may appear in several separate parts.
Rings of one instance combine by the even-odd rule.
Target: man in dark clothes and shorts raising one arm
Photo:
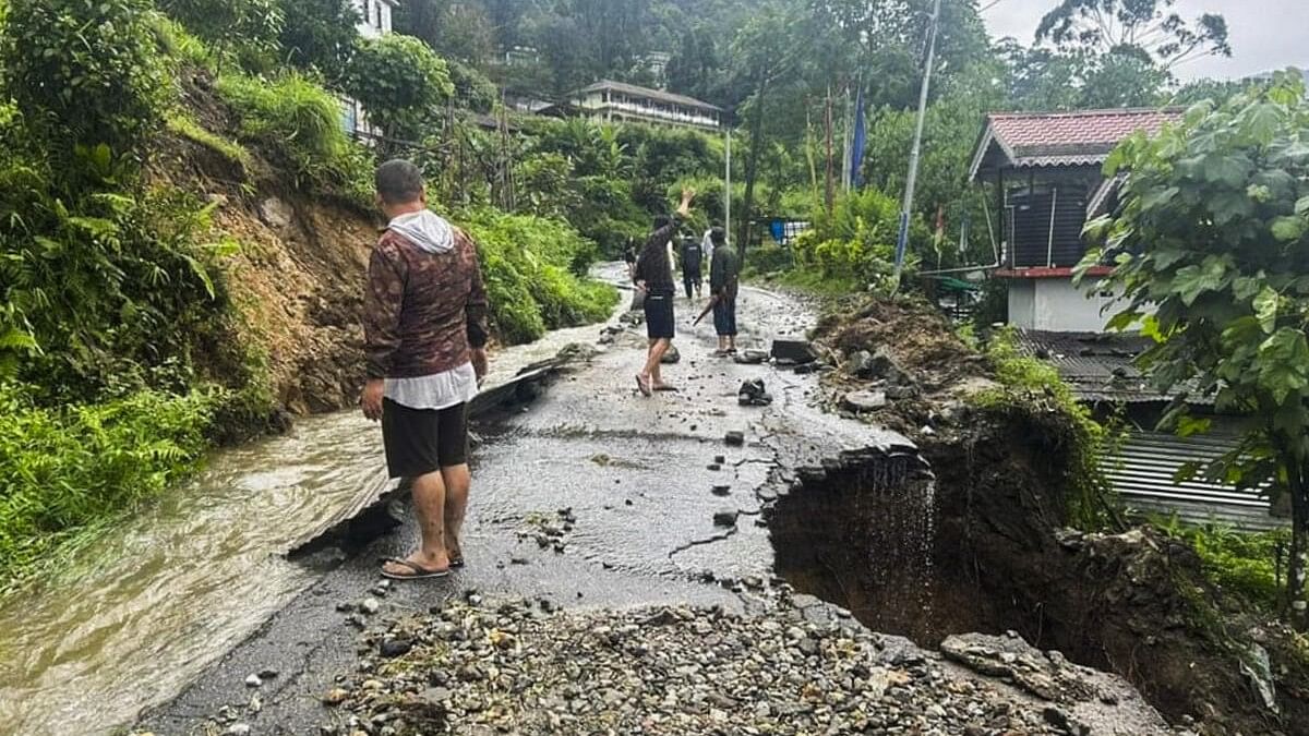
[[[694,190],[682,190],[682,204],[677,213],[672,217],[656,217],[654,232],[636,259],[632,280],[645,295],[645,330],[649,337],[645,367],[636,375],[636,388],[647,397],[654,392],[677,390],[664,382],[660,365],[677,333],[673,325],[673,297],[677,293],[673,283],[673,236],[677,234],[679,221],[691,215],[692,199]]]

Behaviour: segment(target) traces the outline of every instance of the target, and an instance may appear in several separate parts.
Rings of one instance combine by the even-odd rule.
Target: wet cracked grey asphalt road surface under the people
[[[377,598],[378,616],[424,612],[470,591],[562,608],[750,609],[751,593],[732,592],[706,572],[719,580],[771,578],[762,511],[796,469],[843,451],[910,444],[825,414],[814,406],[817,376],[713,358],[712,326],[692,330],[698,309],[686,300],[677,306],[682,359],[665,373],[681,392],[636,394],[644,329],[635,327],[565,371],[531,405],[484,428],[463,540],[469,567],[445,580],[393,587]],[[772,338],[802,337],[814,318],[808,305],[759,289],[744,289],[740,310],[742,346],[763,350]],[[764,380],[772,406],[737,406],[737,389],[749,378]],[[728,447],[729,431],[745,433],[744,447]],[[721,468],[711,469],[720,456]],[[716,495],[716,486],[729,486],[728,495]],[[560,509],[576,516],[560,538],[562,553],[535,538],[541,520]],[[715,516],[728,512],[738,515],[736,526],[717,525]],[[398,529],[363,550],[305,561],[323,570],[321,578],[137,728],[206,733],[226,706],[253,733],[314,732],[325,718],[322,694],[357,664],[359,631],[338,605],[369,596],[380,580],[378,558],[406,554],[416,534],[406,509]],[[251,673],[268,671],[276,676],[246,686]]]

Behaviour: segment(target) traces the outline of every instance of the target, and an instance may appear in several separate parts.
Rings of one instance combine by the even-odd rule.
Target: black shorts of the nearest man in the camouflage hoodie
[[[391,478],[418,478],[469,461],[469,405],[410,409],[382,399],[382,444]]]

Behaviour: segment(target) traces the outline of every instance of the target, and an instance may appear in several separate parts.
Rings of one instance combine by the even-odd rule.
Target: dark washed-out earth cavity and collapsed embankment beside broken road
[[[1204,732],[1306,732],[1304,676],[1279,653],[1295,639],[1220,613],[1194,550],[1151,528],[1064,528],[1068,448],[1056,407],[1041,398],[992,410],[959,405],[946,384],[969,382],[967,372],[932,384],[912,354],[901,359],[905,351],[886,339],[897,329],[888,309],[856,320],[872,313],[874,329],[846,323],[833,334],[838,344],[859,334],[886,340],[880,347],[894,367],[869,381],[905,401],[888,402],[873,420],[908,428],[923,460],[868,453],[802,474],[768,519],[783,578],[873,630],[928,647],[950,634],[1017,631],[1041,650],[1124,676],[1174,723],[1194,719]],[[851,372],[852,347],[834,351],[842,373]],[[846,375],[829,386],[839,394],[857,388],[852,381]],[[1275,706],[1244,673],[1258,669],[1255,643],[1272,652]]]

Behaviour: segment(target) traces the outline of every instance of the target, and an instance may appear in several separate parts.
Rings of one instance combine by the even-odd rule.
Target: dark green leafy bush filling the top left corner
[[[136,157],[168,89],[149,0],[9,0],[0,80],[48,151]]]

